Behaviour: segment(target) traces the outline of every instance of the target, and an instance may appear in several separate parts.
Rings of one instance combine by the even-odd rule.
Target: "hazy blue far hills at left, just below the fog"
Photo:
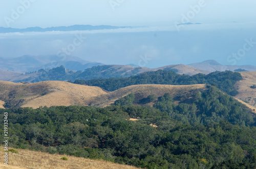
[[[61,65],[70,70],[84,70],[103,64],[85,61],[69,55],[65,58],[59,57],[58,55],[23,55],[17,58],[0,58],[0,68],[2,70],[24,73],[37,71],[39,69],[52,69]]]

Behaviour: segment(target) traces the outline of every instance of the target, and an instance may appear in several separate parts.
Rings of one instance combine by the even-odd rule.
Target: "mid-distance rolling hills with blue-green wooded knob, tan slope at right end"
[[[50,70],[43,70],[43,71],[41,71],[42,70],[41,69],[40,71],[36,71],[36,72],[32,71],[26,74],[21,72],[0,70],[0,80],[13,81],[13,82],[20,82],[20,81],[38,82],[38,81],[46,81],[46,80],[74,81],[76,79],[89,80],[89,79],[95,79],[95,78],[129,77],[129,76],[137,75],[143,72],[157,71],[157,70],[172,70],[178,74],[187,74],[187,75],[194,75],[198,73],[203,73],[203,74],[210,73],[208,71],[196,69],[186,65],[169,65],[169,66],[164,66],[156,69],[151,69],[146,67],[133,67],[129,65],[100,65],[99,63],[87,63],[82,65],[80,62],[75,62],[75,61],[69,61],[63,65],[66,65],[66,66],[58,66],[56,68],[51,68]],[[40,67],[38,67],[38,69],[39,68]],[[76,70],[84,70],[84,71],[82,72],[82,71],[76,71]]]

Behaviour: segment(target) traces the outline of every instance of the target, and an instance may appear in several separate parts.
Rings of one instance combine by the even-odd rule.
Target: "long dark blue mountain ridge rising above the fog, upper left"
[[[18,29],[12,27],[0,27],[0,33],[14,33],[14,32],[48,32],[48,31],[93,31],[93,30],[112,30],[132,28],[131,26],[111,26],[111,25],[72,25],[72,26],[56,26],[56,27],[27,27],[25,29]]]

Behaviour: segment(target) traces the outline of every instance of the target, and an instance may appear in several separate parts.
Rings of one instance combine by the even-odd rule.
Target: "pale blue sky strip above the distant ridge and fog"
[[[1,0],[0,26],[168,25],[180,22],[182,14],[191,11],[190,6],[200,3],[203,7],[191,22],[244,22],[256,18],[255,0]],[[13,11],[19,15],[13,15],[14,19]]]

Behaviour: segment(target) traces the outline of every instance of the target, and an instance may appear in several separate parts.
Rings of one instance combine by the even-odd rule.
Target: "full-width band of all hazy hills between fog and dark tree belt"
[[[63,66],[63,68],[56,69]],[[58,55],[24,55],[17,58],[0,58],[0,80],[38,82],[44,80],[76,80],[110,77],[129,77],[148,71],[171,70],[178,74],[209,74],[213,71],[256,71],[252,65],[221,65],[214,60],[189,65],[168,65],[159,68],[135,67],[136,65],[104,65],[78,57]],[[38,70],[44,69],[45,71]],[[63,70],[62,70],[63,69]],[[8,71],[7,71],[8,70]],[[60,71],[60,72],[58,72]],[[79,71],[79,72],[76,72]],[[28,72],[25,74],[25,72]]]

